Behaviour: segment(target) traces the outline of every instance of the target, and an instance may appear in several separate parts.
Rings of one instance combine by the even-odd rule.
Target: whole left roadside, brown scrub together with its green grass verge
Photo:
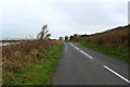
[[[50,85],[61,50],[58,40],[27,40],[3,46],[3,85]]]

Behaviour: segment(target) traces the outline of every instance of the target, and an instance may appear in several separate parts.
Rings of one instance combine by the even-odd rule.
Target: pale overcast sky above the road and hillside
[[[0,4],[0,38],[37,37],[46,24],[52,38],[123,26],[128,24],[128,1],[3,0]]]

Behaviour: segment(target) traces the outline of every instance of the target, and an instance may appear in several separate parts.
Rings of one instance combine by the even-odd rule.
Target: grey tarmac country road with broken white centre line
[[[64,42],[53,85],[128,85],[128,64],[78,44]]]

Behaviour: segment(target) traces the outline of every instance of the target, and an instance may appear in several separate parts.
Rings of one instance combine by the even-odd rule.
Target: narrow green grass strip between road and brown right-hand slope
[[[95,51],[102,52],[102,53],[113,57],[115,59],[119,59],[121,61],[130,63],[130,59],[128,59],[128,57],[129,57],[128,54],[130,54],[130,52],[128,51],[128,48],[90,44],[90,42],[86,42],[86,41],[74,41],[74,42],[77,42],[83,47],[93,49]]]

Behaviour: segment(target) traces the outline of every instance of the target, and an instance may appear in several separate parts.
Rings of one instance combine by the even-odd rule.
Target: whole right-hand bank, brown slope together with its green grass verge
[[[87,48],[130,63],[130,51],[128,49],[130,40],[129,29],[130,25],[127,25],[92,35],[75,34],[69,37],[69,41],[75,41]]]

